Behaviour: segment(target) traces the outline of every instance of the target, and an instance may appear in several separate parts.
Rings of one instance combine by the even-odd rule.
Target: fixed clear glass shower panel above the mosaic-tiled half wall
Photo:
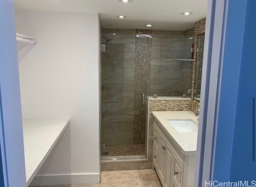
[[[193,29],[152,31],[150,95],[191,97],[193,74]]]

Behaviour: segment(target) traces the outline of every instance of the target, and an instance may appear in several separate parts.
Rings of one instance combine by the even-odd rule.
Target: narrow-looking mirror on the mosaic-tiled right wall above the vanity
[[[195,95],[194,98],[200,100],[202,67],[204,58],[204,34],[197,36],[197,60],[195,66]]]

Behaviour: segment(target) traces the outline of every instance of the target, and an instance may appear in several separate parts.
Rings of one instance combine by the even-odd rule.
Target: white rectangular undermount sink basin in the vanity
[[[168,120],[179,133],[197,132],[198,126],[193,120]]]

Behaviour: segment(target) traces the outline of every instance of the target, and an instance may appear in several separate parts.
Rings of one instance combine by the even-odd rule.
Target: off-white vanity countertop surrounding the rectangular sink
[[[155,111],[153,116],[162,124],[171,139],[183,155],[195,155],[197,150],[197,133],[179,133],[168,120],[193,120],[197,125],[197,116],[191,111]]]

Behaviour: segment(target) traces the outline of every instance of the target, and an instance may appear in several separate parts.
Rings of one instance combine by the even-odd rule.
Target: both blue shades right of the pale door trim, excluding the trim
[[[250,183],[256,180],[256,162],[253,161],[253,97],[256,97],[255,9],[255,0],[230,0],[228,5],[214,162],[214,180],[217,181],[249,180]]]

